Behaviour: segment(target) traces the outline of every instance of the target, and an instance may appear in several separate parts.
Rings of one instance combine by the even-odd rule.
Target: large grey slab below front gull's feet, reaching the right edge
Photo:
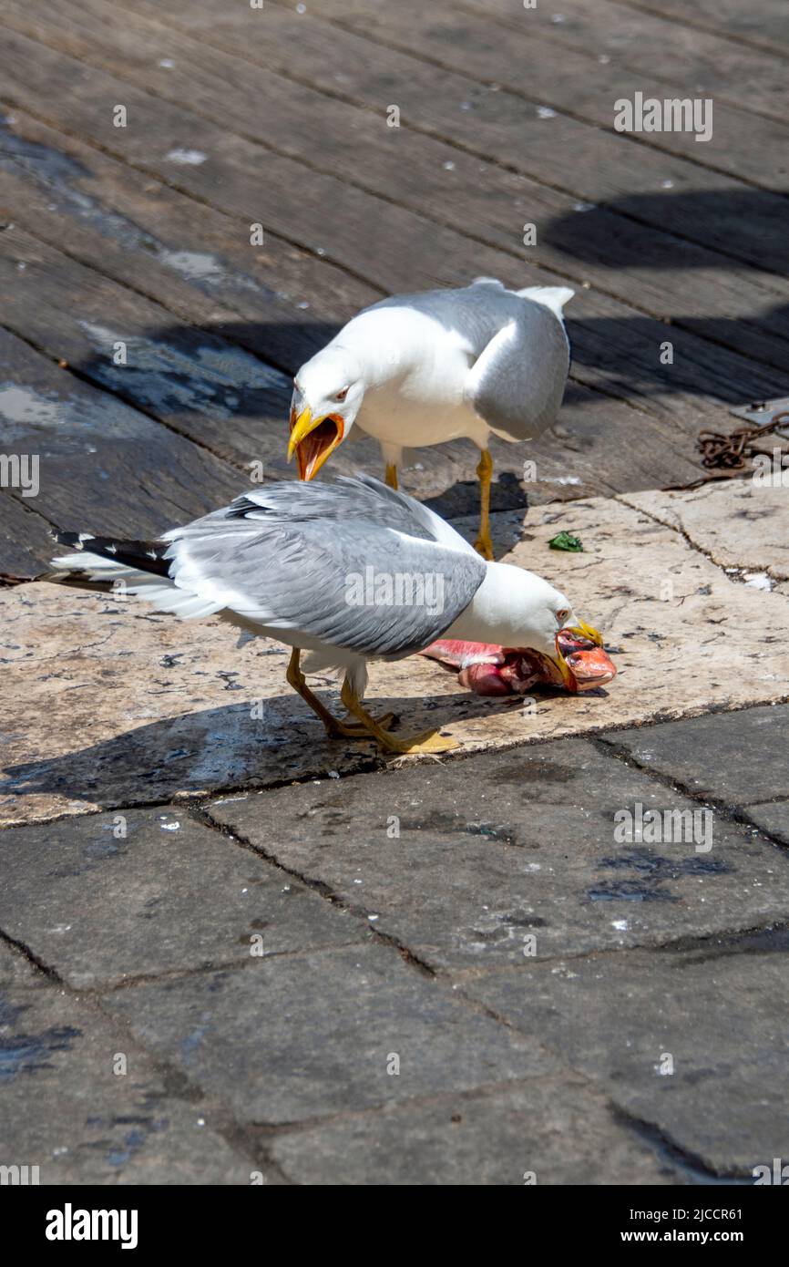
[[[737,732],[743,716],[722,723]],[[674,843],[617,843],[614,815],[638,805],[702,812],[574,739],[206,808],[434,968],[528,964],[789,919],[780,849],[719,815],[697,820],[695,841],[669,824]],[[697,850],[707,821],[710,848]]]

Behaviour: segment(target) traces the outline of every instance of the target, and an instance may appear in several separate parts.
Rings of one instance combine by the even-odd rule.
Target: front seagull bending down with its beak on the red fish
[[[156,541],[58,532],[71,552],[42,579],[120,590],[182,618],[218,616],[244,634],[293,649],[286,679],[333,737],[372,736],[386,753],[445,753],[436,731],[400,737],[391,715],[362,704],[370,660],[400,660],[437,639],[533,647],[572,670],[557,634],[578,621],[570,602],[541,576],[489,563],[422,502],[371,475],[317,484],[281,480]],[[308,653],[304,668],[301,653]],[[350,717],[334,717],[304,673],[338,669]]]

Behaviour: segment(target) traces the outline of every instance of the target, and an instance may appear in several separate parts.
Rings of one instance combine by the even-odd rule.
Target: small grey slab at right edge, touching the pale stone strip
[[[789,792],[789,706],[746,708],[600,736],[694,796],[741,806]]]

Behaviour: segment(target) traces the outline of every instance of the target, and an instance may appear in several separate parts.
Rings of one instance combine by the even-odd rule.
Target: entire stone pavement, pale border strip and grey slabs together
[[[584,554],[547,551],[557,523]],[[0,1164],[685,1185],[786,1158],[785,527],[750,484],[499,514],[621,674],[524,711],[376,670],[461,737],[441,761],[327,744],[277,647],[217,622],[6,590]]]

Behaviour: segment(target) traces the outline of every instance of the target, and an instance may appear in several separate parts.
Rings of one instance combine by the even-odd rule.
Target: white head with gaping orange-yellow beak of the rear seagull
[[[344,347],[329,343],[301,366],[294,379],[287,446],[301,479],[313,479],[347,437],[363,394],[358,360]]]

